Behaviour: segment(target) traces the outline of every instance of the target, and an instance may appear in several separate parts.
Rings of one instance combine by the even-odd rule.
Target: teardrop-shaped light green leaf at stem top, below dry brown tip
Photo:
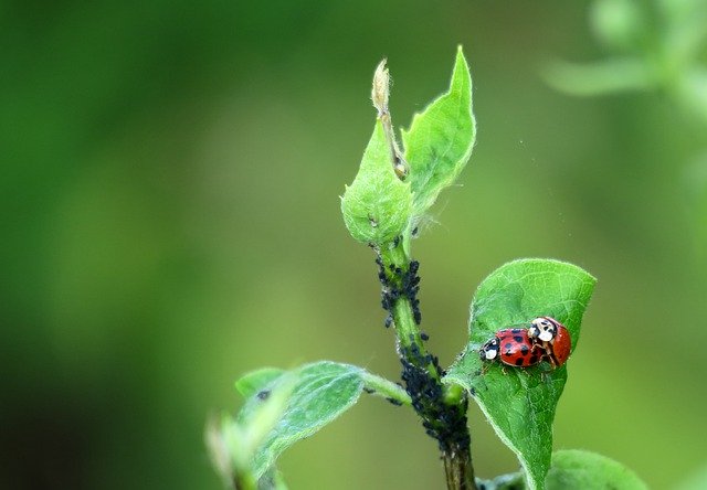
[[[344,222],[351,236],[382,245],[400,236],[412,213],[410,184],[393,170],[392,152],[378,119],[358,174],[341,198]]]

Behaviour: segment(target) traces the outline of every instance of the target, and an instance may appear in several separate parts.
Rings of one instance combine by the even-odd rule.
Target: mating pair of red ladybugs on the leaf
[[[547,361],[559,368],[570,356],[572,340],[562,323],[550,317],[539,317],[527,329],[502,329],[482,345],[483,361],[499,359],[504,364],[528,368]]]

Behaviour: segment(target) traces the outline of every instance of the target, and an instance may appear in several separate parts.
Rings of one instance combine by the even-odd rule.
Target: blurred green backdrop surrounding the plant
[[[331,359],[397,379],[373,255],[338,195],[371,132],[377,63],[407,126],[460,43],[478,136],[414,243],[431,349],[443,365],[462,350],[497,266],[570,260],[599,284],[556,448],[653,488],[700,467],[707,130],[659,90],[576,98],[542,82],[548,60],[606,54],[589,11],[3,2],[0,487],[215,490],[203,426],[239,406],[239,374]],[[517,469],[476,408],[471,425],[478,476]],[[370,397],[279,466],[293,489],[443,486],[416,417]]]

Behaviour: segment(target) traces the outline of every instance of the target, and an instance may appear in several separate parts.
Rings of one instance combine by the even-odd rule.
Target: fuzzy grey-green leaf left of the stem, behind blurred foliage
[[[329,361],[306,364],[272,379],[251,396],[238,415],[238,423],[247,427],[260,406],[281,388],[287,373],[295,376],[286,408],[264,438],[251,465],[255,478],[261,478],[277,457],[296,441],[309,437],[352,406],[363,390],[363,370]]]

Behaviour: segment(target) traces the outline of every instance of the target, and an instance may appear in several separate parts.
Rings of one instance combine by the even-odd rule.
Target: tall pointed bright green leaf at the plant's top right
[[[415,114],[410,130],[402,131],[415,216],[424,214],[440,192],[454,183],[472,155],[475,138],[472,77],[460,46],[450,90]]]

